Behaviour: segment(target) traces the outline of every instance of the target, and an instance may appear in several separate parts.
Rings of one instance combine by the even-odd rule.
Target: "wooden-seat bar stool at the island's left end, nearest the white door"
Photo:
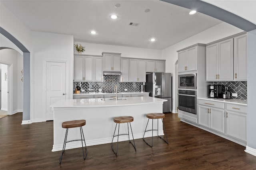
[[[66,135],[65,135],[65,139],[64,139],[64,144],[63,144],[63,148],[62,148],[62,154],[60,156],[60,163],[61,163],[61,160],[62,160],[62,155],[65,151],[65,148],[66,148],[66,143],[68,142],[72,142],[72,141],[82,141],[82,150],[83,150],[83,156],[84,156],[84,146],[83,146],[83,141],[84,141],[84,145],[85,145],[85,151],[86,151],[86,154],[84,156],[84,160],[87,156],[87,149],[86,149],[86,143],[85,143],[85,140],[84,140],[84,132],[83,132],[83,128],[82,126],[84,126],[86,124],[86,120],[73,120],[73,121],[64,121],[62,123],[62,128],[66,128]],[[73,127],[80,127],[80,134],[81,134],[81,139],[77,139],[77,140],[72,140],[72,141],[67,141],[67,136],[68,136],[68,129],[69,128],[73,128]]]

